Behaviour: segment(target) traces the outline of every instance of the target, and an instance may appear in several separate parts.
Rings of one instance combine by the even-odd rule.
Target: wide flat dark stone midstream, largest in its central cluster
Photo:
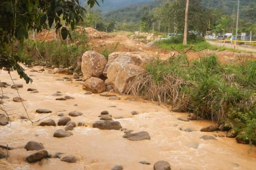
[[[121,124],[117,121],[96,121],[92,124],[93,128],[99,128],[103,130],[119,130],[122,128]]]

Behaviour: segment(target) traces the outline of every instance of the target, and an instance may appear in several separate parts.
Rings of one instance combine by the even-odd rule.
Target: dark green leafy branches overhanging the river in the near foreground
[[[103,0],[102,0],[103,2]],[[93,7],[97,0],[87,0]],[[71,33],[66,26],[75,25],[82,20],[84,8],[79,0],[2,0],[0,3],[0,69],[4,67],[10,72],[16,70],[26,83],[32,82],[19,63],[29,64],[21,56],[24,39],[28,39],[29,31],[41,32],[42,29],[60,31],[62,39]]]

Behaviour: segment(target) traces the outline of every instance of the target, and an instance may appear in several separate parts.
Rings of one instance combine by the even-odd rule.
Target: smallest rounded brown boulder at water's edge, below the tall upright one
[[[83,83],[83,89],[88,90],[92,93],[101,93],[106,90],[106,85],[103,80],[91,77]]]

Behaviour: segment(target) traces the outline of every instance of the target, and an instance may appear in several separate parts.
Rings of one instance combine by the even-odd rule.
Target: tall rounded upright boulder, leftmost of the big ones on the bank
[[[104,55],[96,51],[86,51],[82,56],[81,70],[85,80],[91,77],[100,77],[107,64]]]

